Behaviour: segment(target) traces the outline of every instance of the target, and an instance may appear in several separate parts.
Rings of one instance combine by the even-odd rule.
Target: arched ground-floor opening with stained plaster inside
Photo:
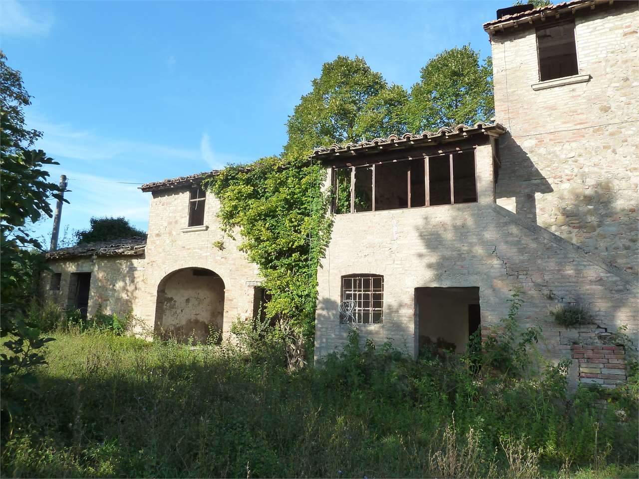
[[[222,331],[224,281],[204,268],[173,271],[158,285],[155,331],[163,337],[205,342],[210,331]]]

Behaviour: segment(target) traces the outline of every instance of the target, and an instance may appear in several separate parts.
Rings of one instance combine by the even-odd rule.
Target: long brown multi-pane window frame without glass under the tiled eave
[[[454,175],[453,175],[453,156],[454,155],[459,155],[461,153],[469,153],[471,152],[473,153],[473,164],[474,164],[474,170],[475,170],[475,201],[465,201],[465,202],[455,202],[454,199]],[[450,167],[450,203],[445,203],[445,204],[430,204],[430,188],[429,188],[429,179],[430,179],[430,172],[429,172],[429,159],[430,158],[438,158],[440,156],[448,156],[449,157],[449,167]],[[419,209],[419,208],[435,208],[437,206],[451,206],[453,204],[470,204],[470,203],[477,203],[479,202],[479,185],[477,184],[477,148],[475,146],[472,147],[468,147],[468,148],[461,148],[458,150],[454,150],[454,151],[446,151],[443,153],[437,153],[436,155],[423,155],[424,158],[424,194],[426,196],[425,198],[425,204],[423,206],[411,206],[412,203],[412,198],[411,198],[411,188],[410,188],[410,183],[411,183],[411,165],[408,165],[408,174],[406,177],[406,188],[407,188],[407,194],[408,194],[408,206],[406,206],[406,208],[389,208],[389,209],[376,209],[375,208],[375,176],[376,176],[376,166],[377,165],[387,165],[390,163],[400,163],[400,162],[410,162],[411,160],[417,160],[419,158],[415,158],[415,157],[406,157],[406,158],[399,158],[396,160],[387,160],[387,161],[383,161],[383,162],[371,162],[371,163],[362,163],[362,164],[358,164],[358,165],[346,165],[346,166],[337,166],[337,165],[333,165],[331,167],[331,188],[332,188],[332,201],[331,201],[331,213],[335,214],[335,215],[345,215],[348,213],[373,213],[375,211],[394,211],[394,210],[398,210],[398,209]],[[355,211],[355,169],[357,168],[369,168],[372,167],[373,169],[373,181],[372,181],[372,192],[373,192],[373,201],[372,201],[372,207],[369,211]],[[338,170],[350,170],[351,174],[350,174],[350,181],[351,181],[351,185],[350,185],[350,211],[346,211],[344,213],[339,213],[337,211],[337,203],[339,201],[339,191],[337,188],[337,180],[338,180],[338,175],[337,175],[337,171]]]

